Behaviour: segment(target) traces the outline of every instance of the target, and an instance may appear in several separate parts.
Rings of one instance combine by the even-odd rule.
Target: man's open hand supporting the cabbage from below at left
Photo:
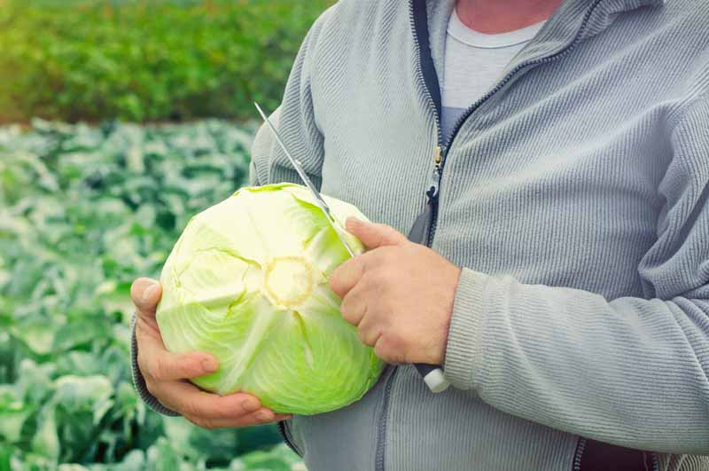
[[[165,349],[155,320],[160,294],[160,284],[153,279],[136,279],[130,287],[137,310],[138,366],[148,391],[160,404],[204,428],[245,427],[290,417],[261,407],[254,396],[242,393],[217,396],[185,381],[214,373],[219,365],[207,353],[170,353]]]

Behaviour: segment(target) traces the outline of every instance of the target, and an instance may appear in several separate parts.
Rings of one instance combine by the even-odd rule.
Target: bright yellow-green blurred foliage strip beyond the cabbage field
[[[332,0],[0,0],[0,122],[253,117]]]

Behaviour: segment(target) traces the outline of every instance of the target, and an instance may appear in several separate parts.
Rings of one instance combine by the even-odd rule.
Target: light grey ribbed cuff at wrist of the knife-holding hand
[[[464,268],[453,301],[443,369],[457,389],[473,389],[482,357],[482,321],[491,277]]]

